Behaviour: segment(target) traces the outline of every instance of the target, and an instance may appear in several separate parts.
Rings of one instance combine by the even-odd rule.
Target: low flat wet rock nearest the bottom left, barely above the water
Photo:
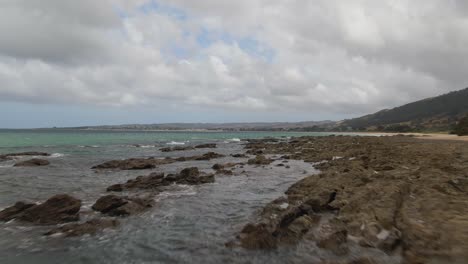
[[[119,221],[115,219],[92,219],[84,223],[66,224],[54,228],[44,235],[50,236],[62,233],[66,237],[76,237],[83,235],[95,235],[104,229],[114,229],[119,226]]]

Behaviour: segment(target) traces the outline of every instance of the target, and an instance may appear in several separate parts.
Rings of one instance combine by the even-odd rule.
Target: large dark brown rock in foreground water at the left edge
[[[17,219],[38,225],[79,220],[81,201],[66,194],[52,196],[42,204],[18,202],[0,212],[0,220]]]

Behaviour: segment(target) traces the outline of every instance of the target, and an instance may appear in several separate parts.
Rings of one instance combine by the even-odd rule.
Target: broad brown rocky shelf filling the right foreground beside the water
[[[229,246],[267,250],[309,240],[338,256],[359,246],[402,263],[466,263],[467,143],[332,136],[257,140],[246,148],[311,162],[321,173],[268,204]],[[381,263],[353,261],[343,263]]]

